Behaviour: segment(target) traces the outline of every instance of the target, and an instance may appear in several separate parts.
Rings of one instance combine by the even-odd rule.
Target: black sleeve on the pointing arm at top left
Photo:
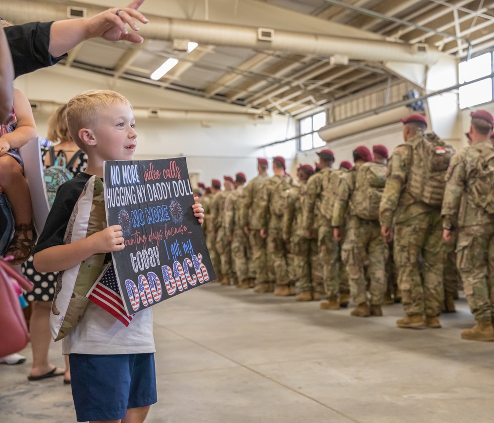
[[[67,54],[53,57],[48,51],[52,23],[30,22],[4,28],[12,53],[15,77],[52,66],[67,57]]]

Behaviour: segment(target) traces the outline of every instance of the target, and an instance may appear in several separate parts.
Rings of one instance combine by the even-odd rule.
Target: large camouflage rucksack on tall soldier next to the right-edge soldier
[[[412,144],[402,146],[412,149],[407,191],[415,201],[440,208],[446,187],[446,172],[455,150],[434,133],[417,137]]]

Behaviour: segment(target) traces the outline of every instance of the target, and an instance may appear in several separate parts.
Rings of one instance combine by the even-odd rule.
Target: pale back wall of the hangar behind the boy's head
[[[245,112],[239,106],[196,98],[190,95],[163,90],[129,81],[90,74],[85,71],[57,65],[20,77],[15,85],[31,101],[65,103],[87,89],[114,89],[123,94],[134,107],[211,112]],[[49,115],[35,113],[38,135],[46,136]],[[271,158],[284,155],[289,161],[295,155],[294,142],[269,148],[262,145],[287,136],[288,118],[273,116],[271,123],[247,120],[192,121],[140,118],[136,120],[138,147],[136,159],[163,158],[184,155],[188,157],[191,173],[199,173],[206,185],[213,178],[234,176],[244,172],[250,179],[256,174],[256,157]],[[288,135],[294,125],[288,127]]]

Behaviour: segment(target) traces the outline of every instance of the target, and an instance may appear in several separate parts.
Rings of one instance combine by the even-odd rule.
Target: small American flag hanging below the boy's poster
[[[125,326],[130,324],[133,315],[127,316],[125,311],[124,300],[120,295],[117,275],[112,262],[101,272],[86,297],[119,319]]]

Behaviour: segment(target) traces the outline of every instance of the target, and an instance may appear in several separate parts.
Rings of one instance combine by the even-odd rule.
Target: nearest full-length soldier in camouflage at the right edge
[[[443,201],[443,238],[458,228],[457,267],[476,325],[461,331],[470,341],[494,341],[493,116],[472,112],[471,145],[453,156]]]

